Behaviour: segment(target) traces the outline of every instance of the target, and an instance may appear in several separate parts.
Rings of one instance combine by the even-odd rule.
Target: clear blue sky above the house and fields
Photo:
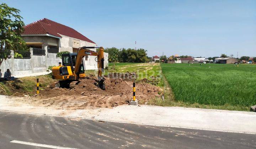
[[[48,18],[105,48],[136,46],[149,56],[256,56],[256,0],[0,2],[20,9],[25,24]]]

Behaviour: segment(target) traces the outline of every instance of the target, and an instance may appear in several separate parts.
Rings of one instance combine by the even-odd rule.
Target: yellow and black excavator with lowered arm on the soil
[[[100,48],[98,52],[90,50]],[[52,67],[52,78],[58,79],[59,82],[55,87],[69,88],[71,82],[78,84],[80,78],[85,78],[84,62],[82,58],[87,55],[96,56],[98,63],[98,79],[95,85],[102,90],[105,90],[105,78],[102,76],[104,71],[104,49],[102,47],[83,46],[78,49],[77,53],[62,54],[62,64]]]

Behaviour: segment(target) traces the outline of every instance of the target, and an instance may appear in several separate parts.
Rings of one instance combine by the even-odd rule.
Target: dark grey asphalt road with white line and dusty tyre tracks
[[[45,147],[256,148],[256,135],[0,111],[0,149]]]

